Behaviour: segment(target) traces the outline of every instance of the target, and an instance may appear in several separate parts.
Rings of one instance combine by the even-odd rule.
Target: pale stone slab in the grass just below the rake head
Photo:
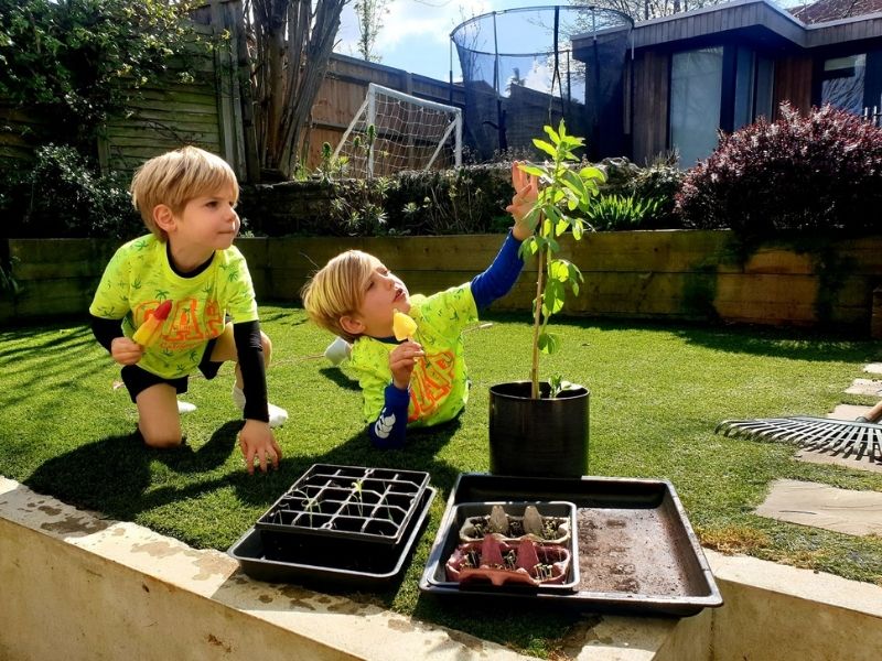
[[[879,491],[851,491],[817,483],[776,479],[755,513],[846,534],[882,534]]]

